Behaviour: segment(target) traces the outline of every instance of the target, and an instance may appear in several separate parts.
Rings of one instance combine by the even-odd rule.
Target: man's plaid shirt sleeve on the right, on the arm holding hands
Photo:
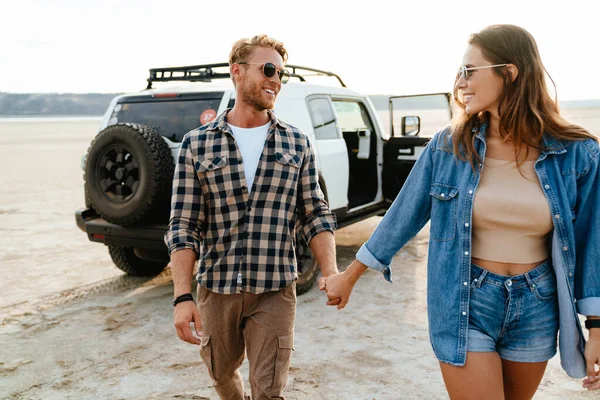
[[[315,154],[307,138],[306,151],[302,160],[298,181],[298,220],[302,225],[301,234],[310,243],[311,239],[323,231],[335,231],[337,221],[329,209],[325,195],[319,186],[319,174]]]

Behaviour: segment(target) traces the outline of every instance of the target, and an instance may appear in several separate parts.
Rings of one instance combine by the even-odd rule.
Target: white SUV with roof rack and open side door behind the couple
[[[128,274],[158,274],[168,263],[163,235],[174,160],[185,133],[233,106],[227,67],[151,69],[145,90],[112,100],[82,160],[86,208],[76,212],[77,225],[91,241],[106,244]],[[287,68],[296,79],[282,88],[274,112],[310,137],[338,226],[384,213],[424,145],[448,124],[449,94],[368,97],[346,88],[334,73]],[[335,85],[309,83],[309,77]],[[297,288],[303,293],[313,285],[318,265],[300,235],[296,255]]]

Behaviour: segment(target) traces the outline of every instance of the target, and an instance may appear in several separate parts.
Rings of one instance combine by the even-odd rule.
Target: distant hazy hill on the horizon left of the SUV
[[[0,92],[0,116],[103,115],[117,93]]]

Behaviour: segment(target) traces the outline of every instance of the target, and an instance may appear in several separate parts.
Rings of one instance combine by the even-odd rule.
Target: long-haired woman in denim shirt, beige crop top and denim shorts
[[[321,288],[341,309],[367,268],[391,282],[392,257],[431,220],[429,330],[450,397],[530,399],[559,330],[563,368],[598,389],[598,142],[560,116],[524,29],[471,35],[463,63],[451,126],[356,260]],[[578,312],[591,321],[587,344]]]

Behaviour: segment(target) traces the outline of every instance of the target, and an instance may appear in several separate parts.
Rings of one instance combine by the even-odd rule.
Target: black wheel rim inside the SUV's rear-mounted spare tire
[[[111,201],[128,201],[140,185],[137,160],[123,145],[107,148],[96,164],[96,182],[102,193]]]

